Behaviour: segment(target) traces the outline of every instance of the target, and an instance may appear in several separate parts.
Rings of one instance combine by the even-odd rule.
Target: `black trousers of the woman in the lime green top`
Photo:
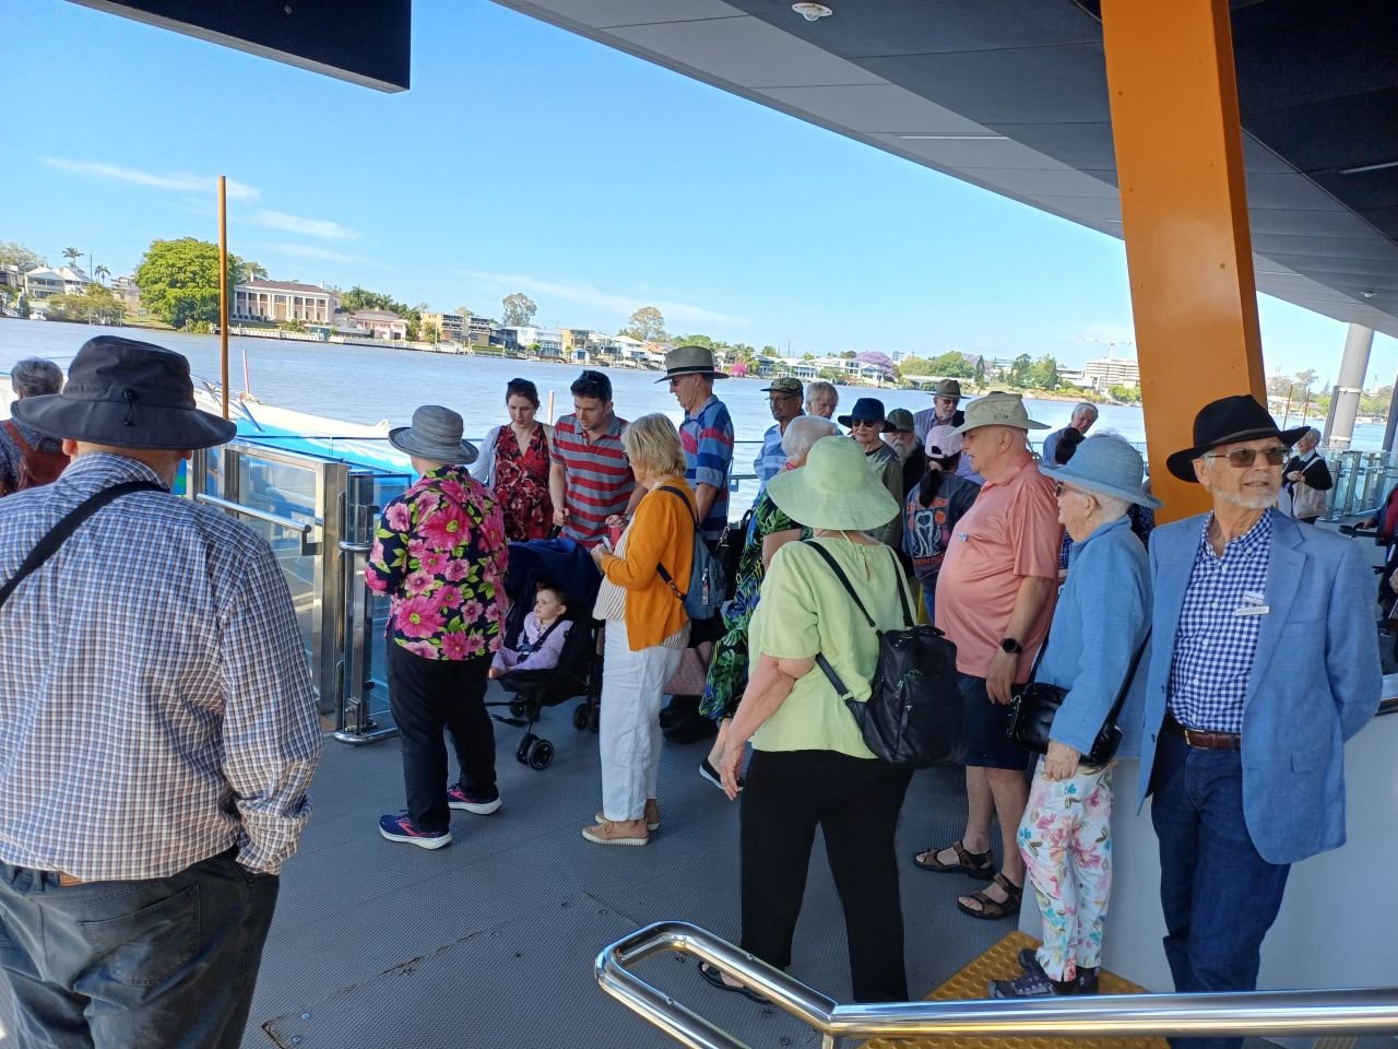
[[[742,948],[791,964],[815,828],[844,905],[856,1001],[906,1001],[893,831],[910,773],[825,750],[754,751],[742,789]]]

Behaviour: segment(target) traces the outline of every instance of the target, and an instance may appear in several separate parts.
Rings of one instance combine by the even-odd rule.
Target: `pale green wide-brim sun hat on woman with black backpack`
[[[811,529],[868,531],[899,513],[898,501],[874,476],[864,449],[849,438],[821,438],[805,466],[768,481],[772,502]]]

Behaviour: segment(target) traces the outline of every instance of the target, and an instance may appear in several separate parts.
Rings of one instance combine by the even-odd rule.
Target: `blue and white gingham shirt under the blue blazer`
[[[1247,608],[1267,604],[1272,511],[1223,547],[1222,557],[1209,545],[1212,523],[1209,515],[1174,632],[1169,706],[1174,720],[1190,729],[1241,733],[1243,697],[1262,627],[1262,615],[1248,615]]]

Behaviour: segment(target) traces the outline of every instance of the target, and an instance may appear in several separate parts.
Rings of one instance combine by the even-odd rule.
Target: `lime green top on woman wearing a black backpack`
[[[881,629],[903,627],[898,587],[903,569],[888,547],[847,540],[816,540],[836,559]],[[906,594],[905,589],[905,594]],[[804,543],[787,543],[772,558],[762,597],[748,628],[758,655],[815,659],[822,653],[850,694],[868,699],[878,662],[878,638],[821,555]],[[849,708],[819,667],[797,680],[791,694],[752,737],[756,750],[833,750],[874,759]]]

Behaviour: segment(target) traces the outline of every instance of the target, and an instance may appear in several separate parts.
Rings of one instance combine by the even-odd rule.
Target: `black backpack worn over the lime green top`
[[[819,543],[807,540],[854,601],[870,629],[878,635],[878,664],[870,683],[868,702],[856,699],[835,667],[816,656],[836,695],[858,722],[864,745],[874,757],[898,768],[960,764],[966,757],[965,699],[956,684],[956,646],[935,627],[913,624],[906,586],[899,566],[898,597],[903,606],[903,629],[881,631],[849,576]],[[895,565],[898,558],[889,550]]]

